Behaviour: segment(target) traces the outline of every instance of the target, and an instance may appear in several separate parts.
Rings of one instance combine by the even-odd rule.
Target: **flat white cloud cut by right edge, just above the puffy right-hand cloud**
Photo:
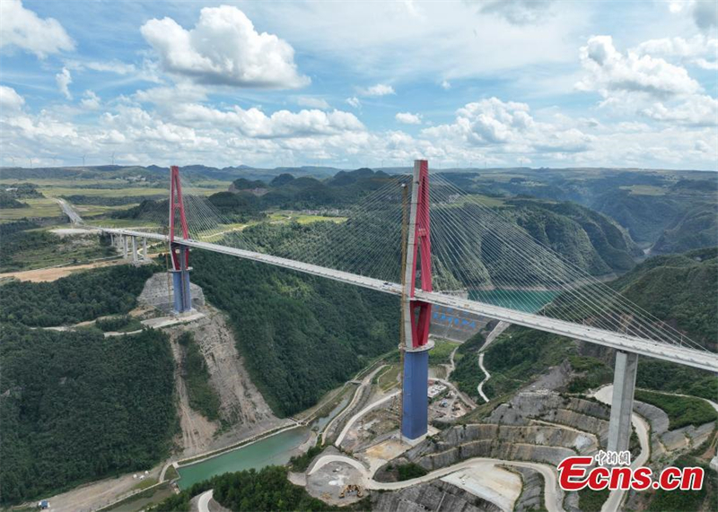
[[[640,56],[678,58],[687,65],[718,70],[718,39],[702,35],[691,39],[650,39],[638,45],[634,51]]]

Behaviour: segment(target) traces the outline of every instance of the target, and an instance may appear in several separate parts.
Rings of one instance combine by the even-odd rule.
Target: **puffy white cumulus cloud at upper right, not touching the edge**
[[[593,36],[580,50],[581,64],[588,72],[576,84],[581,91],[599,91],[608,97],[612,91],[642,92],[659,98],[693,94],[701,86],[686,69],[662,58],[621,54],[610,36]]]

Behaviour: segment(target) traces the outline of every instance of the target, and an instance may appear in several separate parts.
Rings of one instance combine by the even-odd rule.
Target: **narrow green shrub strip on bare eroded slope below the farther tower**
[[[182,355],[181,375],[187,387],[189,406],[200,412],[207,420],[219,419],[219,396],[209,384],[209,371],[205,357],[199,351],[194,334],[182,333],[177,339]]]

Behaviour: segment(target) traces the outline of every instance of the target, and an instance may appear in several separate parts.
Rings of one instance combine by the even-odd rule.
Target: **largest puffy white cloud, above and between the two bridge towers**
[[[165,71],[198,83],[294,89],[309,84],[294,64],[294,50],[283,39],[259,33],[236,7],[202,9],[194,29],[171,18],[141,28]]]

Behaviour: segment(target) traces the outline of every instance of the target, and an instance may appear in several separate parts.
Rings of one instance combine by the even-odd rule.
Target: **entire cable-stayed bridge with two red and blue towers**
[[[308,183],[306,195],[312,193]],[[145,256],[147,239],[169,245],[178,312],[191,308],[190,248],[398,296],[404,356],[401,430],[409,439],[426,432],[433,305],[616,349],[609,449],[627,447],[638,355],[718,372],[718,354],[587,272],[601,270],[590,251],[560,254],[549,247],[556,245],[556,237],[538,232],[545,235],[542,240],[531,234],[532,219],[502,208],[500,200],[467,194],[441,175],[430,179],[426,161],[415,162],[411,177],[377,179],[359,204],[339,212],[336,221],[248,227],[208,201],[206,191],[180,178],[177,168],[171,170],[168,204],[143,208],[141,218],[150,224],[143,230],[95,227],[118,241],[126,255],[131,241],[133,257],[140,239]],[[620,242],[620,230],[614,231],[617,241],[609,244]],[[485,299],[486,291],[502,300]],[[530,293],[527,299],[526,291],[550,292],[552,299]]]

